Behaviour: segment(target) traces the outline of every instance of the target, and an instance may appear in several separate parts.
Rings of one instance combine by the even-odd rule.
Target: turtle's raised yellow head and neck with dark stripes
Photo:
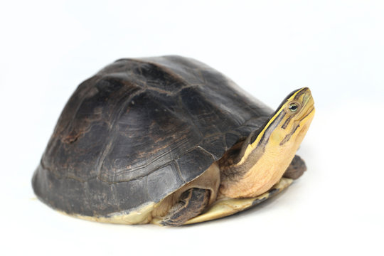
[[[300,105],[297,112],[289,112],[292,102]],[[220,194],[230,198],[250,198],[272,188],[294,158],[313,117],[314,101],[309,89],[304,88],[289,97],[255,142],[245,144],[242,159],[232,166],[222,166],[240,177],[223,176]]]

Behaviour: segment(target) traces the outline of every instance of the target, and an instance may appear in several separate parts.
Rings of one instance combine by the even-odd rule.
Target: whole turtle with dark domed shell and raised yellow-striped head
[[[193,58],[124,58],[82,82],[33,174],[74,217],[179,226],[261,203],[306,171],[308,87],[276,110]]]

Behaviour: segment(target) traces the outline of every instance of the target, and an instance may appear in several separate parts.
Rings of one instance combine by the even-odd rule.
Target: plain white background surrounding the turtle
[[[1,255],[383,255],[383,1],[1,1]],[[184,228],[70,218],[31,176],[82,80],[118,58],[186,55],[271,107],[316,116],[285,193]],[[5,253],[4,253],[5,252]]]

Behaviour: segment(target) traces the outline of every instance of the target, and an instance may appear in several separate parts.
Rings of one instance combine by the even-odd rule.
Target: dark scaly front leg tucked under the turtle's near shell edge
[[[203,212],[208,206],[209,198],[209,189],[190,188],[184,191],[180,196],[180,200],[172,206],[160,224],[168,226],[183,225],[187,220]]]

